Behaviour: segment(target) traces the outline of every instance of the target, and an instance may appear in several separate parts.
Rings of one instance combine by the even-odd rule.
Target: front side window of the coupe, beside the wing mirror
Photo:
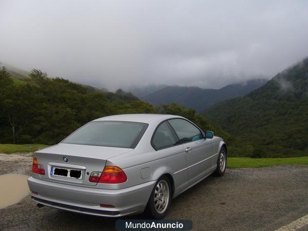
[[[173,119],[169,120],[169,124],[175,130],[180,139],[177,143],[187,143],[203,139],[200,130],[186,120]]]

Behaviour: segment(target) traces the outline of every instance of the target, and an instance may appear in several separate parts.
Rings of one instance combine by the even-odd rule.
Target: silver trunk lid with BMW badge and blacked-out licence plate
[[[40,176],[41,179],[63,183],[96,185],[97,183],[89,182],[91,172],[102,172],[107,159],[131,150],[133,149],[79,144],[56,144],[35,152],[37,163],[43,165],[45,169],[45,175],[37,176]],[[57,175],[59,171],[67,171],[68,177]],[[70,177],[70,172],[77,172],[78,175],[81,175],[79,178],[77,178],[78,175],[77,177]]]

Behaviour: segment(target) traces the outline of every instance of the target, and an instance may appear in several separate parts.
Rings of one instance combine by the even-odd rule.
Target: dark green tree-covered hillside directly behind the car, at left
[[[0,143],[55,144],[81,125],[111,114],[178,114],[194,121],[204,130],[229,140],[229,134],[176,104],[153,107],[131,93],[119,89],[103,92],[62,78],[48,78],[33,69],[28,78],[16,82],[0,67]]]

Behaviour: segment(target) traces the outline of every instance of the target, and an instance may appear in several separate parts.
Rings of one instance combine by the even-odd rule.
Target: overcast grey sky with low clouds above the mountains
[[[0,0],[0,61],[110,90],[219,88],[308,56],[308,1]]]

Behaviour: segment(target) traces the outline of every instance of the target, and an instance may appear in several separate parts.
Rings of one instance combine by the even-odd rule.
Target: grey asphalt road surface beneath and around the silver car
[[[30,174],[29,161],[0,161],[0,174],[12,172]],[[166,219],[190,219],[194,230],[276,230],[307,214],[308,168],[297,165],[227,169],[172,200]],[[114,230],[116,221],[37,208],[29,196],[0,209],[0,220],[0,230]]]

